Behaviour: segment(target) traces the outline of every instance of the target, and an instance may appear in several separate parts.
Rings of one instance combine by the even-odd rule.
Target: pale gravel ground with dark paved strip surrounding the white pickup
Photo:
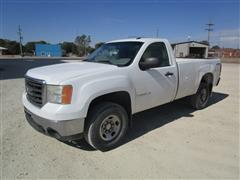
[[[23,74],[46,64],[0,61],[2,179],[239,178],[239,64],[223,64],[206,109],[177,101],[137,114],[125,143],[105,153],[83,141],[61,143],[26,122]]]

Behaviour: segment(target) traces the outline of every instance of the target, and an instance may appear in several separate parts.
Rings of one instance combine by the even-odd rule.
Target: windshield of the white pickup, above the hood
[[[115,42],[103,44],[88,56],[85,61],[128,66],[142,46],[142,42]]]

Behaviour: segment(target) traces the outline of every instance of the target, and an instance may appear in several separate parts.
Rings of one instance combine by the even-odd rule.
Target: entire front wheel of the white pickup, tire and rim
[[[128,115],[119,104],[95,105],[86,119],[84,138],[95,149],[107,151],[120,145],[128,129]]]

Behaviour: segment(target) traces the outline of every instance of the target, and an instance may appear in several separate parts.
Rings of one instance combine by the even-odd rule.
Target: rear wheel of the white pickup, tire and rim
[[[201,83],[197,90],[197,93],[191,96],[191,105],[194,109],[200,110],[207,106],[210,97],[210,85]]]

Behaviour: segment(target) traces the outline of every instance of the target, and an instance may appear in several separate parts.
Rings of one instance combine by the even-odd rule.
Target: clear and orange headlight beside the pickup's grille
[[[47,85],[47,101],[56,104],[71,104],[72,86]]]

